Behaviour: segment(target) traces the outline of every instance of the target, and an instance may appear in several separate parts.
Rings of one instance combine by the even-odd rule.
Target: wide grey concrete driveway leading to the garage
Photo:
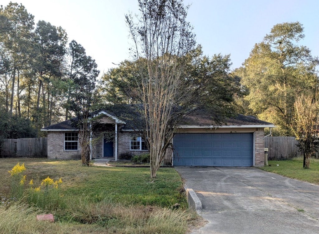
[[[201,200],[202,233],[319,233],[319,185],[256,168],[175,167]]]

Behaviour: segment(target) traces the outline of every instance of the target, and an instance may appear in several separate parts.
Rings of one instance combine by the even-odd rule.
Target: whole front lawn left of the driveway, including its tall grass
[[[0,233],[186,233],[197,220],[197,215],[187,210],[182,180],[173,168],[160,168],[151,179],[149,168],[0,158],[0,197],[10,196],[8,171],[18,162],[25,163],[25,186],[31,179],[62,177],[62,207],[43,211],[23,199],[0,204]],[[180,208],[173,209],[175,203]],[[42,213],[53,213],[57,222],[36,222],[35,215]]]

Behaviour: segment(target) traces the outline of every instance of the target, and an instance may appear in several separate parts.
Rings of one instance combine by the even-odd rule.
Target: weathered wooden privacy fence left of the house
[[[4,139],[2,157],[43,157],[48,156],[48,138]]]

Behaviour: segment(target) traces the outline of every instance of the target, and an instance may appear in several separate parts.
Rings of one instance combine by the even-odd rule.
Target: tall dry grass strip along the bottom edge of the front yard
[[[194,213],[151,206],[123,207],[107,201],[94,204],[74,202],[66,213],[69,220],[48,223],[37,221],[37,208],[16,202],[0,205],[0,233],[64,234],[64,233],[186,233]]]

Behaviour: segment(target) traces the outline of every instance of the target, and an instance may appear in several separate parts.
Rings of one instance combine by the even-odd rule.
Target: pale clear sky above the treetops
[[[10,1],[2,1],[6,6]],[[15,1],[12,1],[15,2]],[[62,26],[103,72],[130,59],[125,14],[138,12],[137,0],[19,0],[34,15]],[[232,68],[240,67],[255,43],[278,23],[299,21],[304,26],[302,45],[319,56],[318,0],[184,0],[191,4],[188,21],[194,26],[204,54],[231,54]]]

